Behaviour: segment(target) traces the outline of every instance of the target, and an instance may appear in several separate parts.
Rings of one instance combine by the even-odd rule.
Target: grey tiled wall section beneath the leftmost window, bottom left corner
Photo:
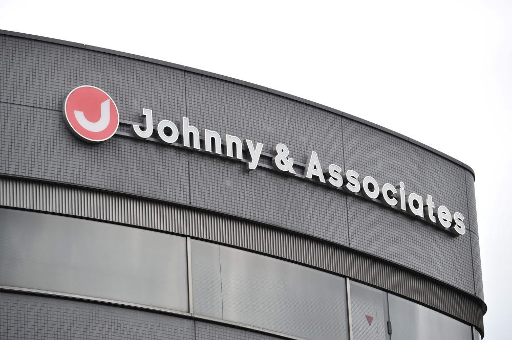
[[[90,302],[0,291],[0,338],[195,339],[194,321]]]

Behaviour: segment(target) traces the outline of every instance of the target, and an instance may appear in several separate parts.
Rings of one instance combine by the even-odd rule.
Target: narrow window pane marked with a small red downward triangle
[[[354,340],[386,340],[386,292],[350,281]]]

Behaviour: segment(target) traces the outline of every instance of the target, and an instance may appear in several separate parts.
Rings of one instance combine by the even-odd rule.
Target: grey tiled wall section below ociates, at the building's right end
[[[474,290],[468,233],[465,237],[454,238],[390,209],[369,205],[351,196],[347,201],[350,240],[354,248],[422,273],[435,273],[436,278],[465,291]]]

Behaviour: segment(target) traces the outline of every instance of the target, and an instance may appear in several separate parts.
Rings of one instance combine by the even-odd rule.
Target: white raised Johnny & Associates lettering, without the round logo
[[[144,128],[140,125],[132,125],[131,130],[135,137],[147,139],[153,134],[153,128],[148,128],[153,127],[153,112],[150,109],[142,109],[141,116],[144,118]],[[199,130],[190,125],[186,117],[181,118],[180,125],[181,135],[183,136],[182,146],[239,161],[243,161],[242,150],[245,147],[249,158],[246,166],[247,170],[254,170],[258,167],[263,143],[254,145],[248,139],[242,141],[230,134],[224,134],[221,138],[218,132],[203,129],[204,148],[201,149]],[[163,144],[175,144],[180,137],[180,131],[176,124],[168,120],[160,121],[156,132],[157,138]],[[286,145],[279,143],[274,146],[273,154],[272,166],[275,170],[289,175],[297,175],[293,169],[293,158],[289,157],[289,150]],[[322,169],[315,151],[311,151],[308,155],[302,178],[316,180],[320,184],[344,190],[349,194],[360,194],[368,200],[376,201],[378,199],[387,207],[406,212],[413,217],[435,224],[440,229],[449,231],[455,236],[464,235],[466,230],[463,223],[464,216],[459,212],[451,214],[445,206],[436,206],[431,195],[420,196],[415,193],[406,195],[403,182],[397,185],[386,183],[380,186],[372,176],[359,179],[359,174],[354,170],[342,172],[342,168],[335,164]]]

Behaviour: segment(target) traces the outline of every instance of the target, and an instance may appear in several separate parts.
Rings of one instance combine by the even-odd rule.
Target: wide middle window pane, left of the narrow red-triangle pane
[[[201,247],[205,249],[200,250]],[[219,266],[214,263],[215,247]],[[344,278],[201,241],[195,241],[191,250],[195,312],[196,308],[220,312],[227,321],[311,340],[348,338]],[[194,268],[198,263],[203,267],[211,263],[209,276],[199,275]],[[212,268],[220,275],[212,273]],[[208,286],[214,299],[208,297]],[[219,289],[221,309],[217,306]]]

